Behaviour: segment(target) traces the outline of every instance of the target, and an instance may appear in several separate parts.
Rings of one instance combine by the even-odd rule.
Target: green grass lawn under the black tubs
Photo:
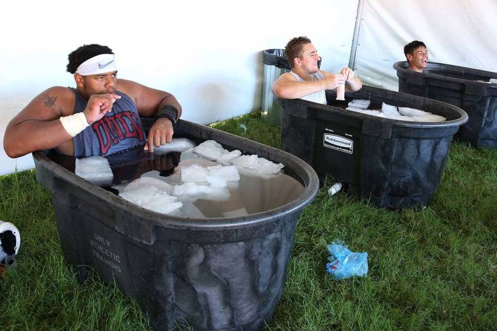
[[[212,127],[280,148],[259,113]],[[247,130],[239,126],[243,124]],[[423,210],[388,211],[326,178],[298,220],[283,298],[268,330],[497,328],[497,150],[453,142],[440,188]],[[50,195],[33,171],[0,177],[0,219],[21,233],[17,266],[0,280],[0,329],[149,329],[139,307],[63,260]],[[326,244],[367,251],[365,277],[332,280]]]

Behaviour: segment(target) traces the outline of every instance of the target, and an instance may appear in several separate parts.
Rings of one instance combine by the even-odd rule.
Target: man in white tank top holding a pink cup
[[[289,41],[285,55],[292,71],[283,73],[273,83],[273,93],[279,98],[300,98],[326,104],[325,90],[340,88],[345,84],[346,91],[354,92],[363,86],[348,67],[343,67],[340,73],[319,70],[317,61],[320,57],[307,37]]]

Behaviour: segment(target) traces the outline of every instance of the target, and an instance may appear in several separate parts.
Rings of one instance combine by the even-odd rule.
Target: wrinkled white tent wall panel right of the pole
[[[496,0],[362,2],[355,68],[365,84],[398,91],[392,65],[413,40],[431,62],[497,71]]]

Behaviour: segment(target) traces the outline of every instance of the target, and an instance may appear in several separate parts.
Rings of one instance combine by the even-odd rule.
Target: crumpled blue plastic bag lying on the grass
[[[341,240],[334,240],[326,246],[331,256],[326,264],[326,271],[334,279],[344,279],[352,276],[364,276],[368,273],[368,253],[352,252]]]

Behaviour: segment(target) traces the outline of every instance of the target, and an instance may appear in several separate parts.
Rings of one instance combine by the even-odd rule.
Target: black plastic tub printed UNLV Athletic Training
[[[105,281],[115,280],[157,330],[262,329],[281,298],[296,221],[316,196],[318,177],[302,160],[245,138],[186,121],[174,130],[175,136],[214,139],[281,162],[305,191],[244,217],[174,217],[129,203],[35,152],[37,179],[52,193],[66,261],[81,279],[93,268]]]

